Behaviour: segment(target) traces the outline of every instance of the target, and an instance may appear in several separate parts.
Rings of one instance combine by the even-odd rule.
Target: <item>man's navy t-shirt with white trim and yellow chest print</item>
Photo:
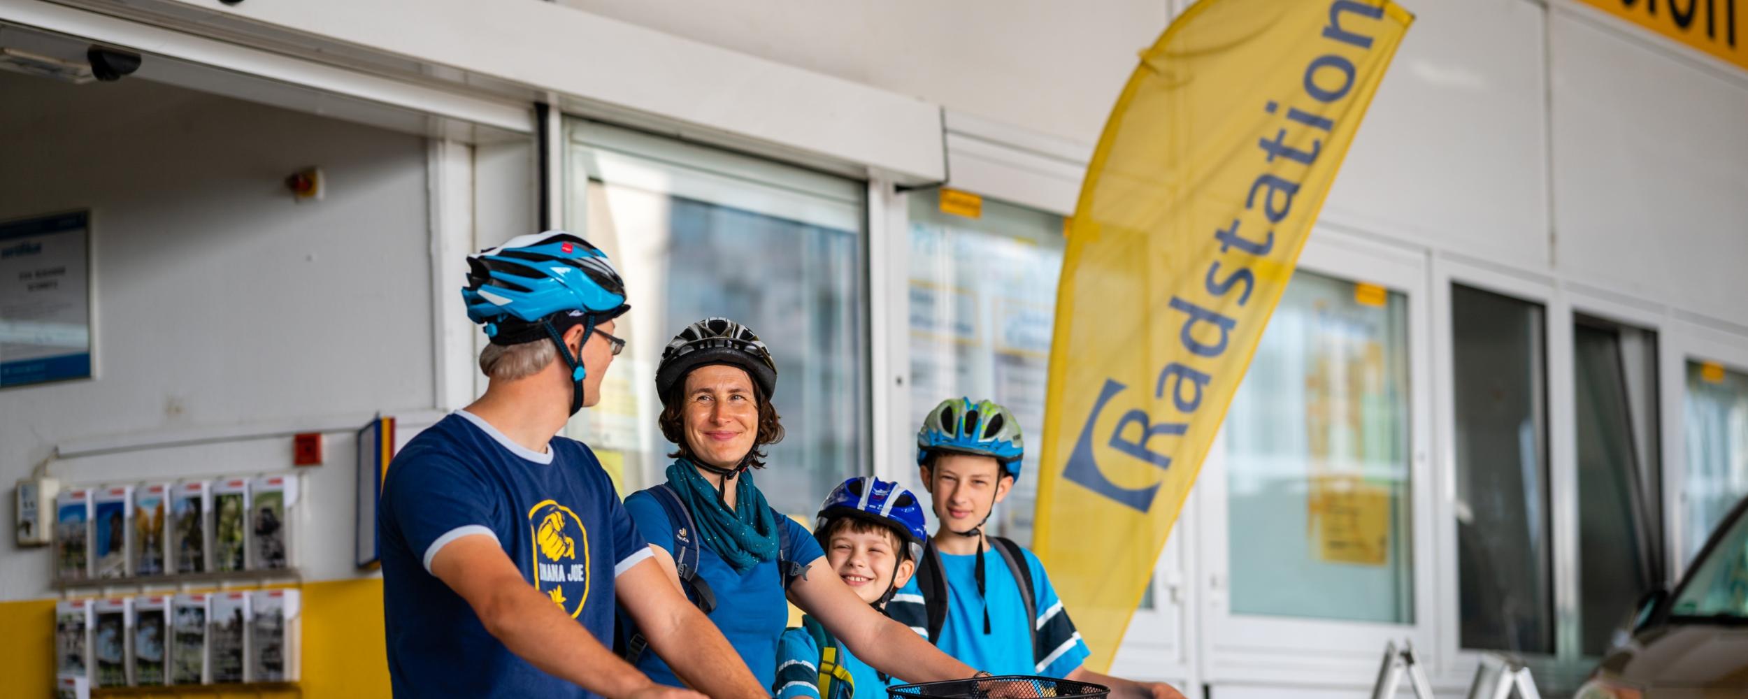
[[[614,640],[614,578],[652,556],[594,453],[552,439],[510,442],[465,411],[407,442],[378,507],[388,676],[402,697],[593,697],[528,664],[430,573],[449,542],[489,535],[603,645]]]

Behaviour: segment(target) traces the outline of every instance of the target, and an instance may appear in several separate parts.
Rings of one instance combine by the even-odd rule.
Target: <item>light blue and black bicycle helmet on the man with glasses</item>
[[[587,372],[565,346],[565,332],[584,325],[593,334],[601,322],[631,309],[626,281],[607,253],[565,231],[516,236],[496,248],[467,255],[461,302],[467,304],[467,318],[486,327],[491,344],[510,346],[542,337],[558,344],[575,383],[572,414],[582,409]]]

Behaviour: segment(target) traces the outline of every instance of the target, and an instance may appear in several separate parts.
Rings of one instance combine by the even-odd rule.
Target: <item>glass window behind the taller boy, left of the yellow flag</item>
[[[991,521],[1030,545],[1063,217],[984,201],[968,218],[939,203],[939,190],[911,194],[909,430],[946,398],[989,398],[1012,411],[1028,449],[1019,484]]]

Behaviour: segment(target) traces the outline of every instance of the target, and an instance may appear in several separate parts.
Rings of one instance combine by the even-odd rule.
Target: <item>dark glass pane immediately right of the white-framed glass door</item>
[[[1543,309],[1453,285],[1451,334],[1461,645],[1552,654]]]

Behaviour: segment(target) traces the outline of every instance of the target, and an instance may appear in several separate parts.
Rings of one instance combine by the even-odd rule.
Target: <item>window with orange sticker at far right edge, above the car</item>
[[[1711,362],[1687,363],[1687,521],[1682,559],[1692,561],[1711,528],[1748,496],[1748,374]]]

